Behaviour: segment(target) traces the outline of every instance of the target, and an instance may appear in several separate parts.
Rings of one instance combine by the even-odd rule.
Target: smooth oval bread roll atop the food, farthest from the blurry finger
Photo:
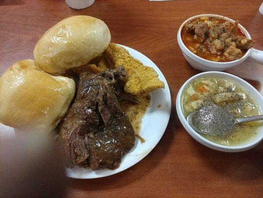
[[[110,30],[102,20],[72,16],[58,22],[39,39],[34,57],[43,71],[56,73],[88,63],[110,41]]]

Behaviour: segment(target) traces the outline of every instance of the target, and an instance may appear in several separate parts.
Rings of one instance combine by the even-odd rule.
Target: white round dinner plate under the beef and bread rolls
[[[120,45],[122,46],[122,45]],[[140,60],[144,65],[152,67],[159,79],[164,82],[165,89],[158,89],[151,93],[151,104],[143,118],[140,135],[146,140],[141,143],[137,138],[135,146],[121,160],[120,166],[115,170],[101,169],[91,170],[75,166],[73,169],[66,168],[66,174],[71,178],[91,179],[106,177],[119,173],[142,160],[160,141],[167,127],[171,112],[171,95],[168,84],[159,68],[144,54],[135,49],[122,46],[130,54]],[[161,107],[158,107],[160,104]],[[14,129],[0,124],[0,138],[15,137]]]

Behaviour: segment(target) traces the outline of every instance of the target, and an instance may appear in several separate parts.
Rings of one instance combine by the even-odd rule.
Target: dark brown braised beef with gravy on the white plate
[[[125,70],[83,72],[79,77],[75,102],[60,131],[66,165],[117,168],[135,142],[133,127],[116,97],[121,93],[116,84],[124,84]]]

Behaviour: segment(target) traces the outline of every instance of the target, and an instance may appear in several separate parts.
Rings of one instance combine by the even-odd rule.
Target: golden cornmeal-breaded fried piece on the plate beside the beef
[[[164,83],[158,79],[156,71],[133,58],[129,52],[113,43],[104,51],[108,64],[113,67],[123,66],[126,70],[124,91],[132,95],[149,94],[158,88],[164,88]]]

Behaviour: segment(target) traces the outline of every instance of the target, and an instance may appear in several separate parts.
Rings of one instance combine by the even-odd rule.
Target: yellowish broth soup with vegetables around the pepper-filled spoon
[[[260,114],[258,104],[254,102],[249,93],[237,83],[223,78],[197,78],[183,92],[181,105],[186,118],[190,113],[210,104],[220,105],[235,118]],[[260,121],[248,122],[236,124],[233,130],[225,135],[200,135],[220,145],[237,146],[254,138],[261,126]]]

